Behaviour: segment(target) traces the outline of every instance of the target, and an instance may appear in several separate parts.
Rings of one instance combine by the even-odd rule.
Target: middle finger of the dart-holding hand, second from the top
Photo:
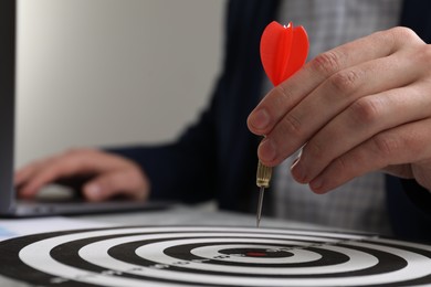
[[[271,142],[264,142],[257,151],[262,162],[278,164],[358,98],[416,81],[419,75],[409,59],[408,53],[400,52],[330,76],[266,135],[266,140]]]

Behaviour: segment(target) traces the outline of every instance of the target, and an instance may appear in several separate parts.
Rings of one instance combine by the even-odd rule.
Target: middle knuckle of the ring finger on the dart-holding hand
[[[358,125],[372,125],[382,116],[383,105],[376,97],[362,97],[351,104],[348,113]]]

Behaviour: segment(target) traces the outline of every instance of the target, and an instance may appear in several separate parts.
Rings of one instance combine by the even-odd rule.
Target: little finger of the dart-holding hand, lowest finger
[[[309,187],[325,193],[370,171],[393,164],[418,162],[431,157],[431,119],[406,124],[382,131],[335,159]]]

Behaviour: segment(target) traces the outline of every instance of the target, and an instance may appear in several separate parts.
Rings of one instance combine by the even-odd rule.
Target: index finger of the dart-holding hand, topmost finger
[[[267,135],[274,126],[326,78],[347,67],[388,56],[407,43],[423,43],[406,28],[377,32],[318,55],[290,79],[271,91],[248,119],[256,135]]]

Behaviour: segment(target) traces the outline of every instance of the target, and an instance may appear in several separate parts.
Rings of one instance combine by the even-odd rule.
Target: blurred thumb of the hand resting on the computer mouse
[[[136,171],[113,171],[96,177],[83,189],[90,201],[104,201],[115,195],[126,195],[135,200],[146,200],[149,187]]]

